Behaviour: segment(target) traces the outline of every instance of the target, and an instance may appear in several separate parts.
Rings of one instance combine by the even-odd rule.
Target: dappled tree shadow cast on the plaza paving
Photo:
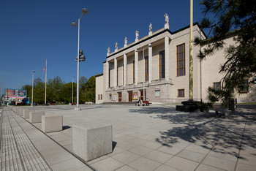
[[[160,132],[162,135],[156,139],[162,145],[171,147],[184,140],[217,153],[238,157],[239,149],[243,151],[246,146],[256,148],[255,107],[238,106],[239,113],[229,118],[217,118],[215,114],[206,118],[204,113],[182,113],[174,107],[143,107],[129,112],[155,114],[151,117],[167,120],[170,129]],[[256,151],[250,154],[256,156]]]

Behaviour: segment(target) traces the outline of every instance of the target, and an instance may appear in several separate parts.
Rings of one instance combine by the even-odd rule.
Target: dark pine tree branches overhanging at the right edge
[[[224,73],[222,89],[208,88],[209,99],[227,104],[244,79],[252,78],[256,73],[256,3],[255,0],[203,0],[205,18],[200,25],[208,31],[208,41],[195,38],[195,45],[206,45],[198,57],[211,56],[225,47],[225,38],[236,35],[236,44],[225,48],[226,61],[219,72]],[[214,20],[208,16],[214,15]],[[250,83],[250,82],[249,82]],[[214,102],[214,101],[213,101]]]

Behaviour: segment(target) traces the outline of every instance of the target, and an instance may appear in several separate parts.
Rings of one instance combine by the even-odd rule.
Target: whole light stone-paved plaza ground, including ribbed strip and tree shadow
[[[173,104],[74,107],[33,107],[63,115],[63,131],[46,134],[1,107],[1,170],[256,170],[256,105],[238,105],[229,118]],[[88,162],[72,153],[72,126],[84,122],[113,126],[112,153]]]

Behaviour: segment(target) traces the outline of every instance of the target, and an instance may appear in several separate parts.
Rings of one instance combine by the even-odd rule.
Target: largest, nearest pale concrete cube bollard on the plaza
[[[112,125],[80,123],[72,126],[73,153],[85,161],[112,152]]]

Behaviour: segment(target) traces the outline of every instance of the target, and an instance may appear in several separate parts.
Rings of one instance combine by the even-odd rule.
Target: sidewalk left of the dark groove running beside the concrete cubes
[[[1,115],[1,170],[91,170],[9,107]]]

